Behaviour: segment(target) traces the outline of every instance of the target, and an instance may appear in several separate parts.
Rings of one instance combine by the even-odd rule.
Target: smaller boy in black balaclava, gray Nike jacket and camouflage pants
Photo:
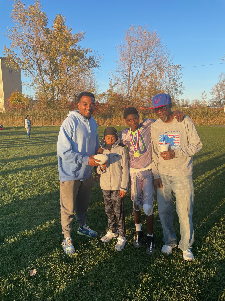
[[[103,154],[108,156],[108,161],[97,167],[97,173],[101,175],[100,186],[109,226],[109,231],[101,237],[101,241],[106,243],[116,237],[115,249],[122,251],[126,243],[123,197],[128,190],[129,170],[127,152],[119,146],[119,142],[115,128],[105,129],[100,145]]]

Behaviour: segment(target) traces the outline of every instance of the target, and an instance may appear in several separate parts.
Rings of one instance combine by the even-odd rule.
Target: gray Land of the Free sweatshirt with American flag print
[[[152,124],[152,171],[154,179],[164,175],[192,175],[193,155],[202,149],[193,121],[189,116],[182,122],[174,118],[170,123],[164,123],[160,118]],[[169,144],[174,150],[175,158],[164,160],[160,157],[160,144]]]

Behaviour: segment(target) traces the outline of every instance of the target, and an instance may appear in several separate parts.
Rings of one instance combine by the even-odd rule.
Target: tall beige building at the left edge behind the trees
[[[4,57],[0,57],[0,111],[6,109],[6,99],[10,97],[12,92],[22,93],[22,81],[19,71],[6,67]]]

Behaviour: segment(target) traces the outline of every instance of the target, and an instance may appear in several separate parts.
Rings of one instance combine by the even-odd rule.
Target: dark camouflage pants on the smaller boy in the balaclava
[[[110,230],[117,229],[120,235],[125,236],[125,216],[123,198],[119,195],[119,190],[102,190],[104,197],[105,211],[108,216],[108,225]]]

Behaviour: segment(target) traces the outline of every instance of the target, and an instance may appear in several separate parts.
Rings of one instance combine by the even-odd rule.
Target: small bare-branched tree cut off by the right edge
[[[211,105],[214,106],[224,106],[225,105],[225,73],[220,73],[218,76],[217,84],[212,87],[211,95]]]

